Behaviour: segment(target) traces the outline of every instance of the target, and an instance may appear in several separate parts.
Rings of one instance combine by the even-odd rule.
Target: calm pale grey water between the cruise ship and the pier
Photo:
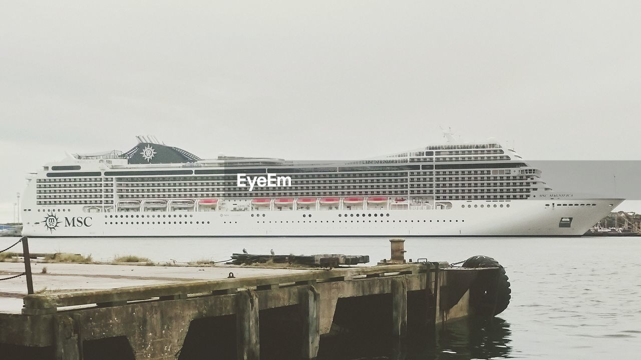
[[[0,238],[0,245],[11,240]],[[387,238],[30,239],[29,245],[32,252],[105,261],[125,254],[220,261],[243,248],[389,257]],[[405,249],[406,258],[429,261],[492,256],[512,282],[512,302],[494,322],[449,325],[435,346],[414,344],[413,360],[641,358],[641,238],[408,238]]]

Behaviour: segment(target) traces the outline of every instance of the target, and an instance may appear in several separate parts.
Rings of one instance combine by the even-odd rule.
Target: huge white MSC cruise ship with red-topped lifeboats
[[[356,161],[218,156],[154,136],[29,174],[24,236],[581,236],[623,199],[554,192],[494,141]]]

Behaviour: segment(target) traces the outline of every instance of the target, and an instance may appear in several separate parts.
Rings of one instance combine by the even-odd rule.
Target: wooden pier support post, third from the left
[[[320,295],[313,286],[301,289],[299,306],[303,315],[303,360],[313,360],[320,343]]]

